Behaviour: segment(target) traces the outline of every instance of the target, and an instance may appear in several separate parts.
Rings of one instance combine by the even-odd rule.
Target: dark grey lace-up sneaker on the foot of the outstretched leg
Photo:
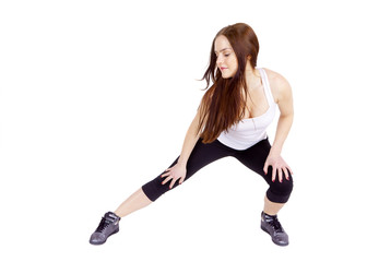
[[[106,242],[107,238],[119,231],[119,221],[115,213],[108,212],[102,217],[102,221],[97,229],[92,234],[90,243],[92,245],[103,245]]]

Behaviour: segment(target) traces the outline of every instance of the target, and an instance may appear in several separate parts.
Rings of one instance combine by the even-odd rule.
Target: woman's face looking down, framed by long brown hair
[[[214,51],[216,55],[216,67],[222,72],[223,79],[233,78],[238,69],[238,62],[235,51],[224,35],[216,37],[214,41]]]

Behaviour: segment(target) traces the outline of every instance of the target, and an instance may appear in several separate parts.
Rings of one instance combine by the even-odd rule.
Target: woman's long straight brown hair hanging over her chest
[[[216,67],[216,55],[214,50],[215,39],[225,36],[238,62],[238,70],[230,79],[223,79],[221,70]],[[237,23],[222,28],[213,39],[210,64],[202,80],[206,80],[206,87],[211,81],[213,85],[204,94],[200,107],[200,120],[198,133],[203,143],[211,143],[216,140],[223,131],[227,131],[234,123],[245,117],[247,85],[245,69],[247,60],[254,69],[259,52],[259,41],[253,29],[245,24]]]

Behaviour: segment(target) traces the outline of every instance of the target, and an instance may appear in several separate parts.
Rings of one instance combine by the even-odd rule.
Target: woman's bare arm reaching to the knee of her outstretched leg
[[[166,182],[170,181],[169,188],[173,188],[175,182],[179,179],[179,183],[182,183],[186,178],[186,164],[190,157],[190,154],[197,144],[200,134],[198,134],[198,127],[199,127],[199,110],[197,112],[197,116],[192,120],[182,145],[181,154],[178,158],[178,162],[175,166],[171,168],[166,169],[166,172],[162,175],[162,177],[167,177],[162,184],[165,184]]]

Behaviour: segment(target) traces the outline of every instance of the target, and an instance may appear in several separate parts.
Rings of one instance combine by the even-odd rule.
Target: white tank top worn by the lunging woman
[[[268,110],[254,118],[246,118],[232,126],[228,131],[223,131],[217,140],[234,150],[247,150],[261,140],[267,139],[267,128],[273,121],[276,111],[276,103],[270,90],[265,70],[257,68],[261,75],[262,86],[269,104]]]

